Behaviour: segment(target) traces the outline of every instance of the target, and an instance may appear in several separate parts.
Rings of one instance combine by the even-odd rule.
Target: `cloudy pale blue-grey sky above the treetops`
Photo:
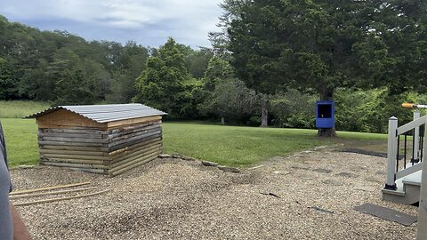
[[[0,14],[42,30],[67,30],[86,40],[157,47],[168,36],[210,46],[222,0],[0,0]]]

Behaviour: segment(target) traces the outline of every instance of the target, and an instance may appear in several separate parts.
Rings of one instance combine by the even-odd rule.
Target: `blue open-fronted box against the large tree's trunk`
[[[333,100],[316,101],[316,127],[334,128],[335,104]]]

